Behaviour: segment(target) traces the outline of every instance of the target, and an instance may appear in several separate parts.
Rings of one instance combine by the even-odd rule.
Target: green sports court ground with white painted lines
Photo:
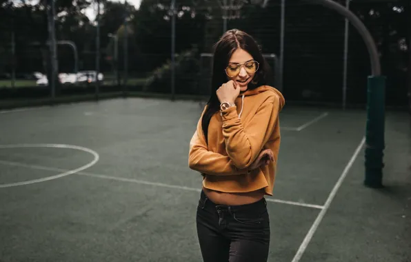
[[[201,261],[196,102],[0,112],[0,261]],[[363,186],[365,111],[285,106],[272,262],[411,261],[409,115],[387,112],[385,188]]]

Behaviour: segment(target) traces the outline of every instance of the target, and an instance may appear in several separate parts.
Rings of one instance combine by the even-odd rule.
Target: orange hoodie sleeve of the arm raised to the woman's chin
[[[225,150],[237,168],[248,168],[269,141],[278,118],[279,103],[278,96],[268,97],[246,126],[241,123],[235,107],[222,112]]]

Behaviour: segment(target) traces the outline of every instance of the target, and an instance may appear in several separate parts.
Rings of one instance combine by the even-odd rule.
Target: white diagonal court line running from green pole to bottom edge
[[[292,259],[292,262],[297,262],[301,259],[301,256],[303,256],[303,253],[305,249],[307,248],[308,244],[310,243],[312,236],[314,235],[315,231],[319,227],[319,224],[323,220],[323,217],[325,215],[325,212],[327,212],[328,208],[330,208],[331,202],[334,199],[335,194],[337,194],[337,191],[339,190],[341,184],[343,183],[345,177],[348,174],[348,171],[350,171],[350,168],[352,167],[352,164],[354,163],[355,159],[357,159],[357,156],[359,152],[361,151],[361,148],[363,148],[363,145],[365,143],[365,137],[361,140],[361,143],[359,143],[357,149],[355,150],[354,154],[352,154],[352,157],[350,161],[348,161],[348,164],[345,166],[343,173],[341,174],[339,180],[337,183],[334,185],[334,188],[332,188],[332,191],[330,192],[330,195],[328,196],[327,201],[325,201],[324,208],[319,212],[317,219],[315,219],[314,223],[312,224],[310,230],[308,231],[307,235],[305,236],[303,243],[301,243],[299,250],[297,251],[297,254],[295,254],[294,259]]]

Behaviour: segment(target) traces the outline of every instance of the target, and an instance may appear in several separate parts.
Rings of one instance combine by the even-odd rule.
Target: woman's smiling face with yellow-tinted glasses
[[[233,80],[244,92],[248,88],[248,83],[252,81],[255,72],[258,70],[258,63],[254,61],[251,54],[239,48],[234,51],[225,69],[229,80]]]

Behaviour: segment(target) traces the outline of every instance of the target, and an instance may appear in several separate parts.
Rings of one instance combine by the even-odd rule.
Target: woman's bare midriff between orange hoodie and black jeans
[[[245,193],[226,193],[208,188],[203,188],[203,191],[210,201],[218,205],[246,205],[255,203],[261,200],[265,194],[263,189]]]

